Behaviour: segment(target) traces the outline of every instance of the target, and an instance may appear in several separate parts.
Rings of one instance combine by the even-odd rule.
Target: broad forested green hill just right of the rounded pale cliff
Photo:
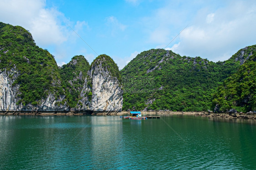
[[[239,66],[235,60],[214,63],[163,49],[144,51],[121,70],[123,79],[135,77],[132,86],[124,83],[123,110],[208,110],[218,85]],[[154,86],[136,86],[140,76],[153,77]]]

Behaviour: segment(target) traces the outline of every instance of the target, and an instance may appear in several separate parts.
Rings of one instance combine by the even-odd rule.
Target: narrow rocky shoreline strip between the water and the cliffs
[[[218,118],[232,118],[232,119],[256,119],[256,114],[253,113],[209,113],[209,112],[183,112],[183,111],[141,111],[142,115],[158,115],[158,116],[169,116],[169,115],[195,115],[201,117],[218,117]],[[92,114],[88,113],[73,113],[73,112],[7,112],[0,113],[0,115],[128,115],[129,111],[121,111],[121,112],[95,112]]]

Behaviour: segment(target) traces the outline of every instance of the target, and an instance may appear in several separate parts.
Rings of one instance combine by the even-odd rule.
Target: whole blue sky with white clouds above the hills
[[[0,21],[29,30],[59,66],[106,54],[122,69],[157,48],[217,62],[256,44],[256,0],[0,0]]]

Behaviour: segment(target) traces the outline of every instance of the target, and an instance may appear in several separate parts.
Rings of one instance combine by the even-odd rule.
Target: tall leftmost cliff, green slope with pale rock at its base
[[[20,26],[0,22],[0,112],[68,111],[54,57]]]

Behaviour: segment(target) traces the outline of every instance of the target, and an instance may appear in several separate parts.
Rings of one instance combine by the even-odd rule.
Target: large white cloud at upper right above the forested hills
[[[172,48],[180,55],[227,60],[241,48],[256,44],[256,3],[232,1],[215,11],[199,10]]]

